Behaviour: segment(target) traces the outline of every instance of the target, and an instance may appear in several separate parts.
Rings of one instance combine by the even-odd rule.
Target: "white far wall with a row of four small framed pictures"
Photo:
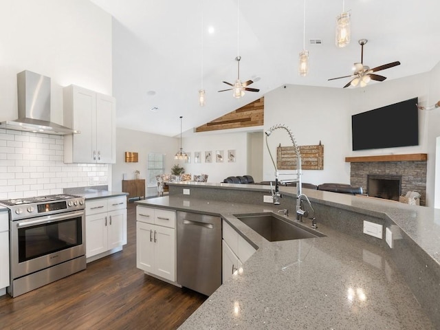
[[[185,173],[192,175],[207,174],[208,182],[223,182],[225,177],[247,175],[248,169],[248,133],[233,130],[216,131],[208,133],[185,133],[182,139],[182,147],[186,153],[191,153],[190,164],[183,164]],[[212,151],[215,155],[217,150],[223,151],[223,162],[216,162],[212,157],[212,163],[206,163],[203,158],[205,151]],[[235,150],[235,162],[228,162],[228,150]],[[201,163],[194,163],[194,152],[201,151]]]

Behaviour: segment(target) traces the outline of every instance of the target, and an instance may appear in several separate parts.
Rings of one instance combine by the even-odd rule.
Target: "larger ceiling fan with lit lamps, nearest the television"
[[[368,40],[366,39],[360,39],[359,44],[361,47],[361,53],[360,53],[360,63],[355,63],[354,67],[354,74],[351,74],[349,76],[342,76],[338,78],[330,78],[329,80],[335,80],[340,78],[353,78],[350,80],[350,82],[345,85],[345,87],[351,86],[357,86],[358,84],[360,87],[365,87],[366,84],[369,83],[370,80],[377,80],[377,81],[384,81],[386,77],[380,76],[378,74],[373,74],[373,72],[377,72],[384,69],[389,69],[390,67],[395,67],[396,65],[400,65],[399,61],[395,61],[392,63],[380,65],[379,67],[373,67],[373,69],[370,69],[370,67],[364,65],[364,45],[366,44]]]

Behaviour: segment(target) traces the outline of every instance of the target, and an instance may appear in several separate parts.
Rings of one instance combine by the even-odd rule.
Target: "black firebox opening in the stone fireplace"
[[[401,175],[367,175],[366,189],[370,197],[398,201],[401,192]]]

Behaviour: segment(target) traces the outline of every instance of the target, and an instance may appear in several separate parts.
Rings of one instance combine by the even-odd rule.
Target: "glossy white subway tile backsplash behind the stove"
[[[64,164],[63,136],[0,129],[0,199],[108,184],[107,164]]]

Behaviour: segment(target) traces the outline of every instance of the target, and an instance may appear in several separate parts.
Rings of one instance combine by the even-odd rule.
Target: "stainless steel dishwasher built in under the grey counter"
[[[221,218],[177,212],[177,283],[210,296],[221,285]]]

